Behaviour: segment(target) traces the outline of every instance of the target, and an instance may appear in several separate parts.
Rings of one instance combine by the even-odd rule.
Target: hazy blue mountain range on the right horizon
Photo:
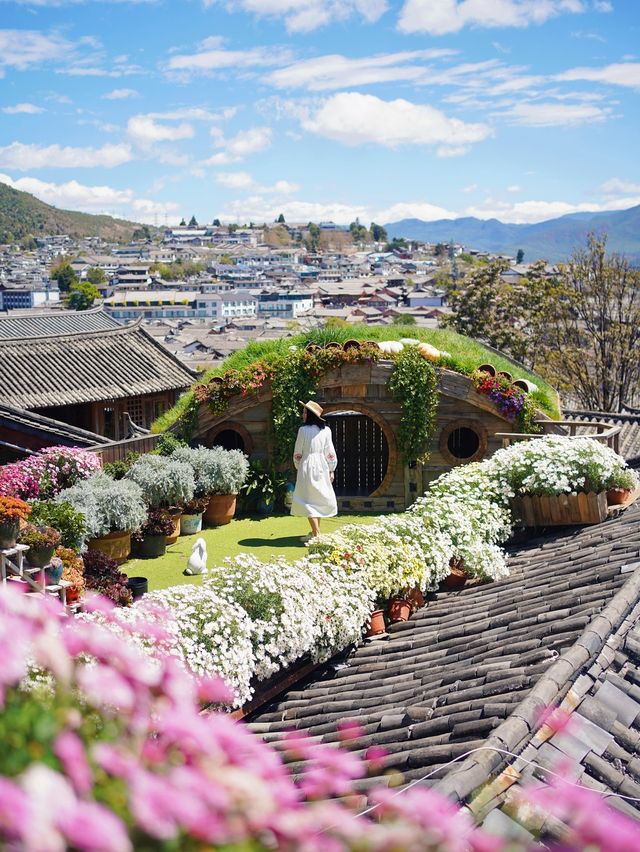
[[[459,243],[470,249],[515,257],[525,261],[544,258],[550,263],[568,260],[584,248],[589,233],[607,234],[607,251],[640,263],[640,205],[607,213],[571,213],[535,225],[512,225],[498,219],[402,219],[384,226],[390,238],[404,237],[427,243]]]

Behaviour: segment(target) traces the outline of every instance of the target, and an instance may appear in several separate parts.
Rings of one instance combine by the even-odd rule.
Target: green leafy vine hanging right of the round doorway
[[[407,463],[425,462],[436,428],[438,376],[417,347],[406,346],[395,358],[389,391],[402,406],[398,446]]]

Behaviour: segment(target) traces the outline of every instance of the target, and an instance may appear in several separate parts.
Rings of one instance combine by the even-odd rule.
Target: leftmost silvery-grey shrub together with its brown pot
[[[61,491],[56,501],[70,503],[83,513],[89,550],[99,550],[118,564],[131,552],[131,532],[147,519],[140,486],[128,479],[112,479],[106,473]]]

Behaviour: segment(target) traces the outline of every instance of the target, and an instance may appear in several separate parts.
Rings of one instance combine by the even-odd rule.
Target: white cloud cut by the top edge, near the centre
[[[204,3],[218,5],[220,0],[204,0]],[[388,8],[386,0],[230,0],[230,6],[258,17],[282,18],[290,33],[311,32],[353,16],[372,24]]]

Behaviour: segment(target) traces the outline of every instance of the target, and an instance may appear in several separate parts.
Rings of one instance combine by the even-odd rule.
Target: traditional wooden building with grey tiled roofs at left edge
[[[140,322],[103,311],[0,318],[0,403],[112,440],[146,428],[195,374]]]

